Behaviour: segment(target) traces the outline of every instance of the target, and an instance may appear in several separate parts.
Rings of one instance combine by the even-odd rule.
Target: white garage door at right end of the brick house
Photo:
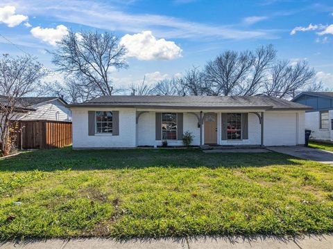
[[[297,114],[264,113],[264,145],[297,145]]]

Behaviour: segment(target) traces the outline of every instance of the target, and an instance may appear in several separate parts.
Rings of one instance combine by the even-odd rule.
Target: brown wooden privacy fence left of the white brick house
[[[72,142],[71,122],[50,120],[17,122],[19,149],[52,149],[70,145]]]

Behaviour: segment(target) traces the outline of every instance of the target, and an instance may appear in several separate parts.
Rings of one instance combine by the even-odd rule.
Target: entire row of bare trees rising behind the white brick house
[[[112,33],[69,31],[58,49],[50,51],[65,85],[49,85],[69,102],[84,102],[99,95],[131,91],[135,95],[269,95],[290,99],[300,91],[320,91],[316,72],[306,60],[291,62],[277,57],[273,45],[255,50],[225,50],[200,68],[192,66],[180,78],[161,80],[153,86],[143,80],[128,88],[114,89],[110,75],[127,68],[126,48]]]

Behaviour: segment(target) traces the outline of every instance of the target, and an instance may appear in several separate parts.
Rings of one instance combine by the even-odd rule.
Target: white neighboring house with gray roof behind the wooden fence
[[[66,107],[67,102],[59,97],[24,97],[22,105],[31,111],[20,113],[15,120],[53,120],[71,121],[71,110]]]

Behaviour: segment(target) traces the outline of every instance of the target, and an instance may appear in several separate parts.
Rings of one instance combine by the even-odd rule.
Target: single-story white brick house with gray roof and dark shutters
[[[302,104],[267,96],[104,96],[69,104],[73,148],[192,145],[303,145]]]

